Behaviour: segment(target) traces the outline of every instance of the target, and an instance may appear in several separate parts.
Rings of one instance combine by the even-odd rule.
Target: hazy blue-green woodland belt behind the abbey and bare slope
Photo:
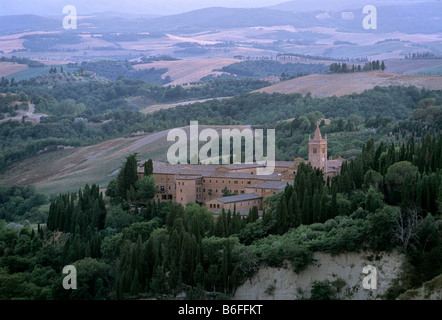
[[[297,156],[306,157],[307,135],[313,132],[316,121],[325,117],[332,119],[332,125],[324,129],[326,133],[333,133],[330,155],[337,157],[347,152],[352,156],[356,149],[361,149],[367,136],[385,137],[393,129],[394,121],[407,119],[410,112],[419,107],[419,101],[425,99],[430,99],[427,101],[431,103],[424,108],[434,110],[431,119],[428,116],[423,120],[430,125],[428,130],[440,130],[441,122],[437,120],[440,119],[442,92],[415,87],[376,87],[362,94],[321,99],[300,94],[242,94],[232,99],[178,106],[147,115],[140,114],[138,108],[125,99],[135,95],[154,101],[176,101],[180,97],[226,93],[224,90],[233,90],[235,85],[234,91],[238,92],[259,86],[260,82],[217,80],[203,87],[184,89],[181,86],[149,86],[140,80],[122,79],[108,84],[60,85],[43,90],[33,86],[17,88],[16,91],[28,95],[37,111],[50,116],[42,118],[37,125],[29,122],[0,124],[0,168],[4,170],[17,160],[59,145],[90,145],[137,131],[147,133],[186,126],[191,120],[207,125],[276,127],[278,158],[290,160]],[[412,116],[413,119],[424,117],[418,110]],[[291,118],[294,118],[291,123],[277,123]],[[91,126],[89,123],[100,125]],[[350,132],[353,134],[346,134]]]

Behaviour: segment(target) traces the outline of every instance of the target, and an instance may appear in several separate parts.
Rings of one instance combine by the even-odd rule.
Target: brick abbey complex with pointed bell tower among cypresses
[[[309,136],[309,159],[276,161],[271,175],[257,174],[263,164],[192,165],[153,162],[153,175],[157,192],[155,200],[172,200],[183,205],[200,203],[210,211],[219,213],[222,209],[235,209],[248,214],[268,196],[282,191],[287,183],[293,183],[297,167],[301,162],[310,162],[312,167],[324,172],[324,177],[333,177],[340,172],[342,161],[327,159],[327,136],[322,137],[319,126],[313,138]],[[138,175],[144,174],[143,167]]]

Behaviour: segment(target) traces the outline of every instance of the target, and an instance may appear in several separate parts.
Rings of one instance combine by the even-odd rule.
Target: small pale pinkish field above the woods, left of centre
[[[178,85],[190,82],[197,82],[201,78],[211,74],[220,74],[220,72],[213,70],[220,69],[224,66],[239,61],[240,60],[229,58],[156,61],[153,63],[137,64],[134,66],[134,68],[137,70],[150,68],[168,68],[169,71],[163,74],[163,78],[170,76],[170,78],[172,79],[172,83],[169,84]]]

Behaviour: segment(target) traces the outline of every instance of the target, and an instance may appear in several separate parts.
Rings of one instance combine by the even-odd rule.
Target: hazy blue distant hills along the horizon
[[[340,5],[330,10],[316,10],[312,5],[308,5],[310,2],[303,0],[299,3],[299,8],[302,8],[303,12],[277,9],[278,6],[267,8],[211,7],[153,19],[150,17],[129,18],[124,14],[121,17],[111,17],[107,12],[82,18],[79,23],[83,26],[77,31],[197,33],[208,30],[292,25],[295,28],[328,27],[347,32],[368,32],[363,29],[361,23],[365,17],[362,13],[363,4],[357,8],[352,6],[350,9],[342,9]],[[388,21],[388,23],[380,24],[378,30],[370,30],[370,32],[441,32],[439,20],[439,12],[442,10],[441,2],[407,1],[403,4],[399,1],[387,3],[376,1],[374,3],[382,5],[382,10],[378,10],[379,23],[382,21]],[[343,19],[343,10],[353,13],[353,18]],[[327,18],[319,19],[318,13],[325,11],[328,14]],[[49,29],[62,29],[60,19],[36,15],[2,16],[0,19],[0,34]]]

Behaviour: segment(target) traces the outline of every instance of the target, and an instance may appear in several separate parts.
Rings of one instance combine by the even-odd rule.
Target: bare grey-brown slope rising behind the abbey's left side
[[[204,126],[200,126],[203,129]],[[244,126],[211,126],[211,128],[239,128]],[[188,131],[187,128],[183,128]],[[33,184],[45,194],[77,191],[86,183],[105,187],[116,177],[125,158],[134,152],[140,161],[149,158],[166,161],[167,149],[174,142],[167,141],[168,130],[117,138],[87,147],[65,147],[42,152],[13,164],[0,174],[0,184],[6,186]]]

